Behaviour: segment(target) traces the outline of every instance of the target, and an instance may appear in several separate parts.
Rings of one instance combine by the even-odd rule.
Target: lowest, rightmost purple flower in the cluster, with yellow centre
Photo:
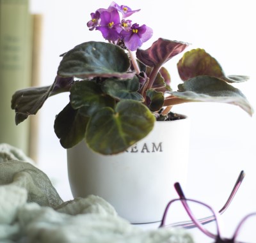
[[[141,47],[143,42],[152,37],[152,34],[153,30],[145,26],[145,24],[143,24],[143,26],[132,24],[131,29],[129,31],[121,31],[120,36],[129,50],[137,50],[138,47]]]

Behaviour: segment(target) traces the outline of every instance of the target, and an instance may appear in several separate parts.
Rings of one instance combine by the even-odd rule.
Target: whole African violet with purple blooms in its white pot
[[[75,196],[84,196],[100,190],[121,216],[133,223],[160,220],[170,193],[163,198],[160,194],[171,189],[173,180],[180,178],[180,171],[186,170],[186,162],[182,164],[181,160],[188,160],[185,152],[188,142],[182,136],[188,140],[189,128],[179,128],[178,122],[186,124],[188,119],[173,114],[173,105],[221,102],[237,105],[250,115],[253,113],[243,93],[232,86],[248,77],[226,76],[218,61],[201,48],[189,50],[177,63],[182,84],[173,91],[170,74],[163,65],[188,47],[188,43],[159,38],[150,48],[142,50],[141,45],[152,37],[152,29],[129,20],[128,17],[138,11],[113,2],[108,9],[100,8],[91,13],[92,19],[87,24],[90,31],[100,31],[108,42],[88,41],[77,45],[61,55],[57,77],[51,86],[22,89],[12,98],[15,122],[19,124],[29,115],[36,114],[50,96],[70,92],[70,102],[56,116],[54,130],[61,145],[68,149],[70,161],[72,154],[80,157],[68,162],[70,181],[91,187],[83,194],[81,189],[71,185],[72,191]],[[172,124],[175,128],[169,127]],[[151,137],[154,130],[158,138]],[[169,131],[180,136],[180,142]],[[168,137],[164,138],[165,134]],[[150,145],[145,139],[149,139]],[[81,143],[83,140],[87,147]],[[172,144],[167,145],[170,141]],[[167,159],[161,157],[162,145],[166,146]],[[78,152],[80,147],[87,156],[86,161]],[[174,152],[170,152],[171,147]],[[131,157],[124,162],[124,157],[120,156],[127,154]],[[152,154],[155,157],[149,161]],[[145,163],[140,163],[142,159]],[[163,162],[166,165],[161,165]],[[132,177],[131,170],[136,165],[138,168],[132,172]],[[180,166],[178,172],[173,169],[176,165]],[[141,186],[140,181],[146,175],[149,179],[145,179],[146,184]],[[170,175],[178,177],[169,180]],[[149,184],[150,180],[152,184]],[[137,195],[128,194],[137,188],[140,189]],[[109,196],[106,196],[104,193],[108,189]],[[146,192],[148,195],[138,203],[137,198]],[[143,210],[146,216],[141,216]],[[147,217],[149,212],[157,215]],[[134,216],[130,217],[131,214]]]

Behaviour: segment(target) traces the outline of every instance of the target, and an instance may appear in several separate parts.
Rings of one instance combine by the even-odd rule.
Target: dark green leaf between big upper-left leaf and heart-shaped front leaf
[[[89,117],[102,107],[115,107],[115,99],[104,94],[99,84],[88,80],[72,85],[70,103],[74,109],[81,108],[80,112]]]

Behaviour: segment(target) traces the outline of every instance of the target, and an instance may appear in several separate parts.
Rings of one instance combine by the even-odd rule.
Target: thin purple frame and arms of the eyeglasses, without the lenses
[[[241,220],[241,222],[239,223],[239,225],[237,226],[234,236],[232,237],[232,239],[222,239],[220,237],[220,227],[218,225],[218,217],[220,214],[223,214],[223,212],[225,212],[225,210],[227,209],[228,205],[230,205],[230,203],[232,202],[232,199],[234,198],[234,196],[236,195],[237,190],[239,189],[239,186],[241,185],[243,179],[244,179],[245,173],[242,170],[239,174],[239,177],[236,180],[236,184],[234,186],[234,188],[232,189],[232,192],[230,193],[230,196],[228,196],[228,200],[225,203],[225,205],[219,210],[219,214],[216,214],[214,212],[214,210],[212,209],[212,207],[210,207],[209,205],[199,202],[197,200],[193,200],[193,199],[188,199],[185,197],[182,188],[179,184],[179,182],[176,182],[174,184],[174,187],[179,195],[180,198],[171,200],[167,206],[166,209],[164,210],[164,215],[163,215],[163,219],[161,221],[161,225],[159,226],[159,228],[162,227],[170,227],[170,226],[174,226],[174,227],[182,227],[182,228],[195,228],[197,227],[199,230],[201,230],[203,233],[205,233],[205,235],[207,235],[208,237],[211,237],[212,239],[216,240],[216,243],[235,243],[235,239],[239,233],[239,230],[241,230],[241,226],[244,224],[244,222],[249,219],[250,217],[256,216],[256,212],[252,212],[251,214],[246,215],[245,217],[243,217],[243,219]],[[185,221],[185,222],[178,222],[172,225],[165,225],[165,221],[166,221],[166,216],[167,216],[167,212],[170,208],[170,205],[172,205],[173,202],[181,202],[182,205],[184,206],[184,209],[186,210],[186,212],[188,213],[188,216],[191,218],[191,221]],[[195,203],[199,203],[201,205],[203,205],[204,207],[207,207],[209,210],[211,210],[212,212],[212,216],[210,217],[204,217],[202,219],[196,219],[195,216],[193,216],[193,212],[189,209],[189,205],[188,202],[195,202]],[[209,232],[208,230],[206,230],[204,228],[204,225],[206,223],[210,223],[212,221],[216,221],[216,226],[217,226],[217,235]]]

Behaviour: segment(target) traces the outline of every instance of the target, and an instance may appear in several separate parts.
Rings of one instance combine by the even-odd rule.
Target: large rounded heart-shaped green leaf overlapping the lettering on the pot
[[[86,142],[100,154],[117,154],[144,138],[154,126],[155,117],[145,105],[122,100],[116,109],[106,107],[92,115]]]

